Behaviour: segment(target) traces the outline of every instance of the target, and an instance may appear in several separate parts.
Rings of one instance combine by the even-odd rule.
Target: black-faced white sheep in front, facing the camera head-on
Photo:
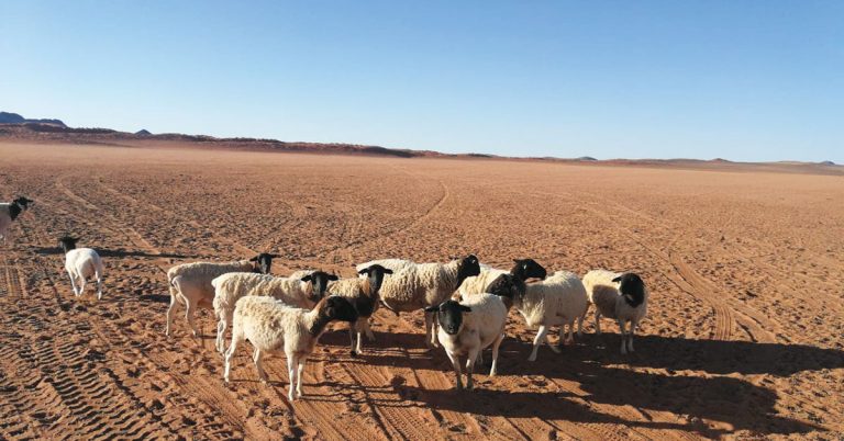
[[[437,337],[452,361],[457,377],[457,388],[463,388],[460,378],[460,355],[466,357],[466,388],[471,391],[471,374],[475,363],[480,359],[484,348],[492,346],[492,368],[489,376],[495,376],[498,366],[498,348],[504,339],[507,306],[497,295],[476,294],[457,303],[453,299],[438,306],[425,308],[436,313],[440,330]]]

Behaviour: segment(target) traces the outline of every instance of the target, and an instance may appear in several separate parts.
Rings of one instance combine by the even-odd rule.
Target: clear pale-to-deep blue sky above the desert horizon
[[[844,163],[844,1],[0,0],[0,110],[449,152]]]

